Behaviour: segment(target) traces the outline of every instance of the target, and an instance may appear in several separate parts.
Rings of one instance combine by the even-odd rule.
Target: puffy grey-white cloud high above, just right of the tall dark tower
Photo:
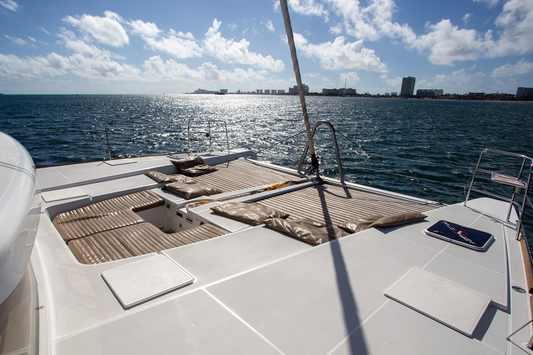
[[[449,19],[438,24],[427,24],[430,32],[418,37],[413,46],[420,51],[430,50],[430,62],[452,65],[455,61],[475,60],[487,48],[487,39],[482,39],[475,30],[460,29]]]

